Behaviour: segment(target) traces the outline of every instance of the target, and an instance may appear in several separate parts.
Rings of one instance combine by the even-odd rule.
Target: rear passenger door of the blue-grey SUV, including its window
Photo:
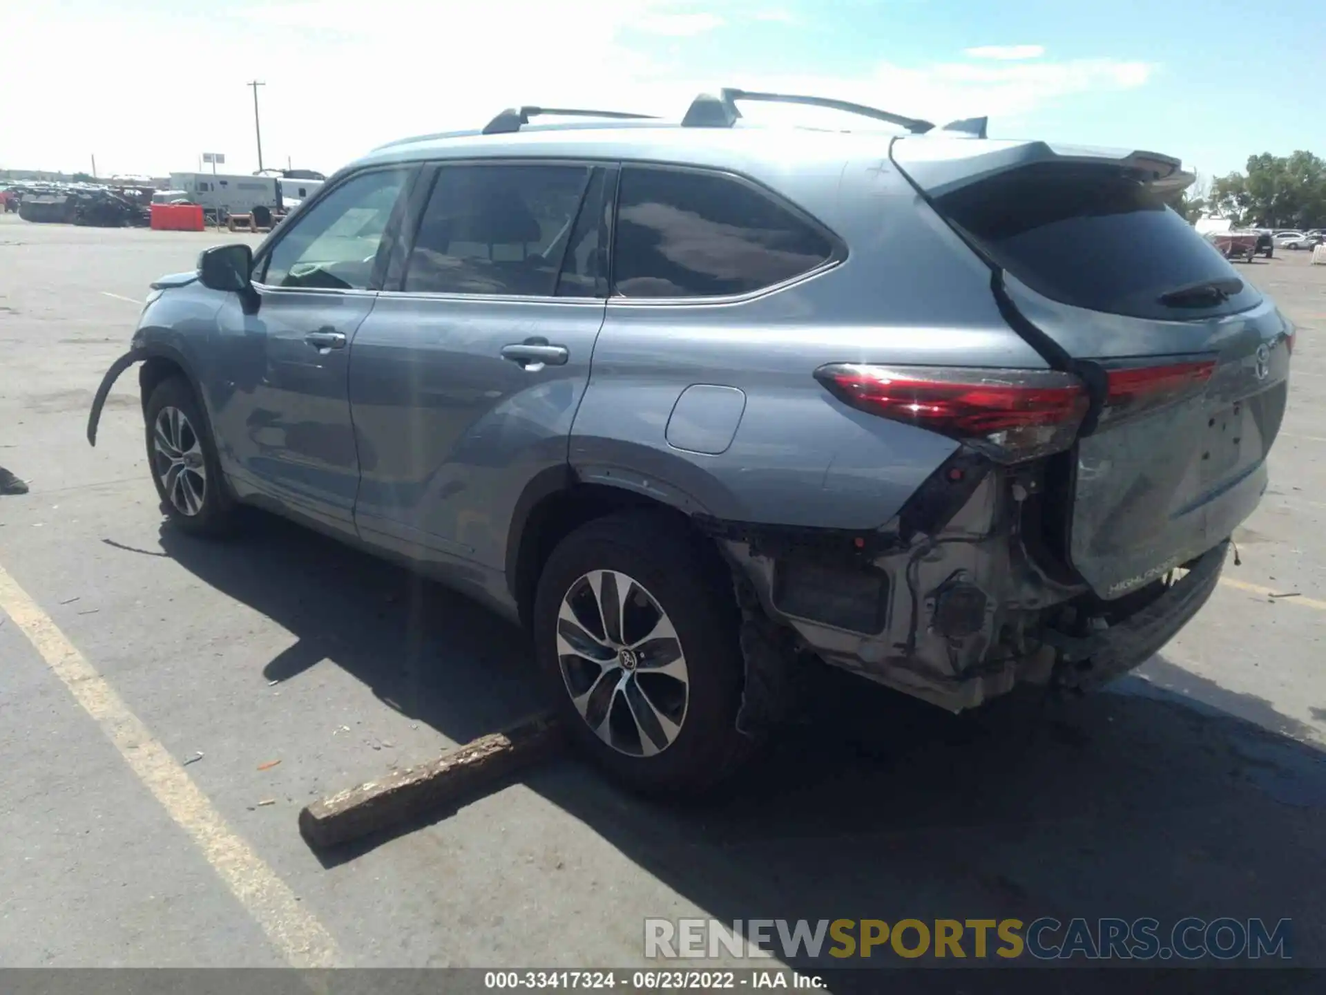
[[[613,175],[491,162],[420,179],[412,248],[350,346],[365,540],[501,568],[525,484],[566,463],[603,324]]]

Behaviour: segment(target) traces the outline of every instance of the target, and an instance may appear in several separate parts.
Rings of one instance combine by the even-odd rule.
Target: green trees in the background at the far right
[[[1253,228],[1326,228],[1326,159],[1249,155],[1244,172],[1197,180],[1175,204],[1189,222],[1215,214]]]

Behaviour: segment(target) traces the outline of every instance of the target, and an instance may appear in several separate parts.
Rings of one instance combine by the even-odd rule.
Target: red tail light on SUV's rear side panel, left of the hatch
[[[834,364],[815,378],[851,407],[960,439],[1001,463],[1066,450],[1089,406],[1077,377],[1052,370]]]

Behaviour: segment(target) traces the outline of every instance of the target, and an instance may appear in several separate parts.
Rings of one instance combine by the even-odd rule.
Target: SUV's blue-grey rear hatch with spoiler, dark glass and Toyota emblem
[[[1175,159],[900,138],[898,167],[996,271],[1004,313],[1093,409],[1049,507],[1106,598],[1215,547],[1257,505],[1293,328],[1166,207]]]

